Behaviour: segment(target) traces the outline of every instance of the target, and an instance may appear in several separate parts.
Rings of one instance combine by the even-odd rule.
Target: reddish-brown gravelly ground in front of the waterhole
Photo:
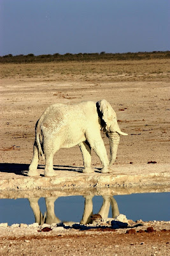
[[[1,228],[1,255],[169,255],[169,231],[50,231],[11,230]],[[19,229],[19,228],[18,228]],[[21,228],[20,228],[21,229]],[[133,231],[134,232],[134,231]]]

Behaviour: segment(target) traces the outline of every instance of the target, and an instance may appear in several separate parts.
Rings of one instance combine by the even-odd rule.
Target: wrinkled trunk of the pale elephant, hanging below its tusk
[[[108,134],[110,140],[110,165],[115,163],[120,135],[117,132]]]

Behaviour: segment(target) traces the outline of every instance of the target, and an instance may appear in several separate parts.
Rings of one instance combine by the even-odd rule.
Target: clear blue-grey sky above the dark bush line
[[[169,50],[169,0],[0,0],[0,56]]]

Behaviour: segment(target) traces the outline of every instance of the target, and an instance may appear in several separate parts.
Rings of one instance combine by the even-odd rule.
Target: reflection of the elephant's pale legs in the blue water
[[[92,223],[92,219],[90,216],[93,214],[93,202],[92,198],[94,196],[83,196],[85,198],[85,206],[83,211],[83,217],[80,221],[81,224],[89,224]],[[103,204],[101,206],[100,211],[98,214],[102,216],[102,218],[108,218],[108,214],[110,211],[110,204],[111,204],[111,211],[112,211],[112,218],[115,218],[119,215],[118,211],[118,205],[113,198],[113,196],[102,196],[103,197]],[[39,198],[28,198],[29,204],[31,206],[32,211],[34,212],[35,222],[37,222],[39,225],[43,225],[43,223],[52,224],[52,223],[61,223],[62,221],[55,216],[55,210],[54,210],[54,203],[55,200],[57,200],[58,197],[46,197],[45,198],[45,204],[46,204],[46,212],[45,215],[41,213],[39,209],[38,200]],[[67,223],[68,221],[64,221],[64,223]],[[70,221],[69,221],[70,222]]]

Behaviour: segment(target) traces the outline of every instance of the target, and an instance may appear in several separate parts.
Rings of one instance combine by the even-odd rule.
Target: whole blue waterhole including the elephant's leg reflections
[[[141,193],[104,196],[47,196],[0,200],[0,223],[88,223],[92,214],[115,218],[124,214],[128,220],[169,221],[170,193]]]

